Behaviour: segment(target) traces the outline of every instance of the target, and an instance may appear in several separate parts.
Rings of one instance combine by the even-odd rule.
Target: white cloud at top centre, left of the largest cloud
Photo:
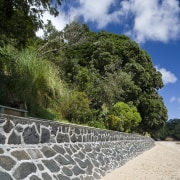
[[[118,23],[119,10],[115,10],[117,0],[76,0],[79,6],[70,8],[70,13],[83,17],[84,21],[95,23],[97,29],[106,27],[110,23]],[[118,3],[119,4],[119,3]],[[113,8],[113,11],[111,11]]]

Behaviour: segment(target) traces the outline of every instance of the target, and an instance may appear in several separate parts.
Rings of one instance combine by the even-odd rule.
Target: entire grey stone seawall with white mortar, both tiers
[[[100,179],[153,146],[137,134],[0,114],[0,179]]]

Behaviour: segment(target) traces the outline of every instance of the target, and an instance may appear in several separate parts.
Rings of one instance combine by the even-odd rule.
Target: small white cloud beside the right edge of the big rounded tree
[[[169,83],[175,83],[177,81],[177,77],[170,71],[166,70],[165,68],[158,68],[156,69],[162,74],[162,80],[164,85]]]

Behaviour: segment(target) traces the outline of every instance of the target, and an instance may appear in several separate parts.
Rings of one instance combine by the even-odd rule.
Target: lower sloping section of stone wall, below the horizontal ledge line
[[[43,147],[37,145],[21,146],[16,145],[3,149],[0,155],[0,166],[4,168],[4,176],[9,174],[13,180],[23,178],[42,180],[56,179],[100,179],[107,172],[123,165],[128,160],[139,155],[139,153],[150,149],[154,145],[152,140],[148,141],[112,141],[98,143],[60,143],[54,145],[45,144]],[[64,154],[56,151],[47,157],[43,150],[56,149],[62,150]],[[78,149],[76,152],[69,149]],[[36,149],[35,149],[36,148]],[[32,153],[33,152],[33,153]],[[48,151],[45,151],[48,152]],[[51,152],[51,151],[50,151]],[[54,152],[54,151],[53,151]],[[32,155],[36,154],[37,155]],[[21,155],[20,155],[21,154]],[[30,159],[28,157],[32,157]],[[13,160],[17,159],[17,163]],[[13,169],[10,173],[10,169]],[[30,176],[30,175],[33,176]]]

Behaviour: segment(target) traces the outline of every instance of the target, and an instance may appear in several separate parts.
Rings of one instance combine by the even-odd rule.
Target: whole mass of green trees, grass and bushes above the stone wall
[[[51,7],[50,1],[33,1],[32,9],[32,1],[10,1],[10,12],[1,16],[0,104],[23,106],[39,118],[157,133],[167,121],[167,109],[158,94],[161,74],[147,52],[125,35],[92,32],[77,22],[63,31],[50,21],[43,24],[38,3],[56,15],[60,1],[53,2]],[[26,23],[16,22],[16,13]],[[44,37],[38,38],[35,31],[41,27]]]

